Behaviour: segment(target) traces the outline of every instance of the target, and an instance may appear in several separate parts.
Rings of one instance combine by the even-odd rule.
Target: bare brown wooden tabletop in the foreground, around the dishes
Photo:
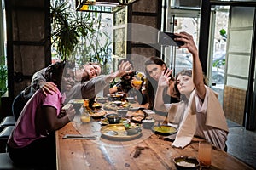
[[[155,119],[163,117],[154,115]],[[101,137],[98,120],[82,124],[77,120],[56,131],[56,159],[58,170],[70,169],[176,169],[175,156],[198,154],[198,139],[182,149],[172,148],[171,141],[143,129],[143,135],[130,141],[113,141]],[[62,139],[65,134],[96,134],[96,140]],[[143,148],[137,157],[137,148]],[[253,169],[223,150],[212,149],[212,166],[209,169]]]

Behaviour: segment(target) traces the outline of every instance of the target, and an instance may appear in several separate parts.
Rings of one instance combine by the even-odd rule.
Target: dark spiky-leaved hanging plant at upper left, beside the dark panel
[[[90,14],[70,11],[69,3],[51,4],[52,44],[61,59],[69,59],[80,37],[93,31]]]

